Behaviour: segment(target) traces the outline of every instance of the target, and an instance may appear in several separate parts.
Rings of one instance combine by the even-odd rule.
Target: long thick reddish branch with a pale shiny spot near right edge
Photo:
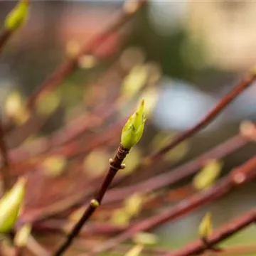
[[[248,160],[242,166],[234,169],[230,172],[228,176],[222,178],[218,183],[212,188],[206,191],[201,191],[195,195],[181,201],[173,208],[164,211],[164,213],[159,213],[151,218],[142,220],[141,223],[133,225],[128,230],[121,233],[116,238],[110,239],[102,245],[95,248],[94,252],[103,252],[105,250],[110,250],[120,242],[132,238],[138,232],[150,230],[156,228],[156,226],[162,225],[170,220],[181,218],[181,216],[186,213],[190,213],[196,210],[198,207],[202,207],[206,203],[215,201],[216,199],[224,196],[233,188],[241,186],[249,181],[252,181],[256,177],[256,156]]]

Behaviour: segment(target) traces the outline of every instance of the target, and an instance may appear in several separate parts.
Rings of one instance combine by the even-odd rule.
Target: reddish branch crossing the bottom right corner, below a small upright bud
[[[181,250],[176,252],[169,252],[164,254],[164,256],[190,256],[190,255],[198,255],[205,250],[207,250],[210,246],[218,244],[229,238],[231,235],[238,233],[238,231],[246,228],[247,225],[254,223],[256,221],[256,208],[250,210],[248,213],[241,215],[240,217],[232,220],[230,223],[223,225],[223,227],[216,230],[212,235],[207,238],[208,247],[201,241],[196,240],[191,242],[191,244],[183,247]],[[225,252],[225,250],[224,250]]]

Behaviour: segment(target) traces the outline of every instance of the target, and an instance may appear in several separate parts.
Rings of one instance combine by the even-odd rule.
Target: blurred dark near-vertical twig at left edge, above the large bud
[[[1,176],[4,181],[4,191],[8,191],[11,188],[11,176],[10,176],[10,163],[6,143],[4,141],[4,131],[0,122],[0,151],[1,151]]]

